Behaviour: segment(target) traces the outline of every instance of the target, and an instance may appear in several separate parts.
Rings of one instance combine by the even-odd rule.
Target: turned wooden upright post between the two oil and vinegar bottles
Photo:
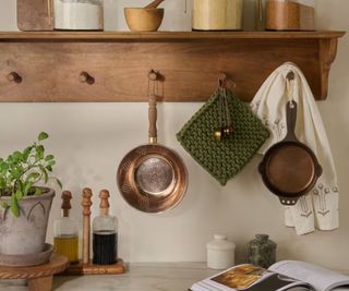
[[[92,206],[92,190],[89,187],[85,187],[83,190],[83,217],[84,217],[84,226],[83,226],[83,264],[89,263],[89,237],[91,237],[91,206]]]

